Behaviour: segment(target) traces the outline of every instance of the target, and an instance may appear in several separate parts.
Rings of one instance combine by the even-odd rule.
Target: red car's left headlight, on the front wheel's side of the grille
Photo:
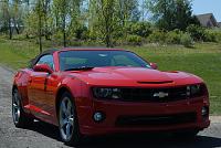
[[[109,99],[118,99],[122,97],[122,93],[119,88],[93,88],[94,97],[96,98],[109,98]]]

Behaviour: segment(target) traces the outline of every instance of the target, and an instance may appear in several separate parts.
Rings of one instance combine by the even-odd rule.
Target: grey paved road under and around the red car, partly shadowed
[[[12,72],[0,66],[0,148],[65,148],[56,127],[35,121],[29,129],[15,128],[11,118]],[[220,123],[220,124],[219,124]],[[168,135],[124,135],[86,139],[82,148],[215,148],[221,147],[221,121],[217,118],[211,127],[191,141],[173,139]]]

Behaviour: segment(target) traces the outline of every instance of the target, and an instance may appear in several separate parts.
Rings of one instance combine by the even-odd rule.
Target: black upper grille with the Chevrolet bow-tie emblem
[[[160,94],[164,96],[160,96]],[[122,88],[125,102],[175,102],[186,99],[187,87],[173,88]]]

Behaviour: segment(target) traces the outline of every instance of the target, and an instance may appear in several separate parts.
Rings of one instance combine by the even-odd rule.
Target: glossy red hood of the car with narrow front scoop
[[[161,72],[144,67],[95,67],[91,71],[69,72],[91,85],[136,86],[136,85],[186,85],[202,80],[185,72]]]

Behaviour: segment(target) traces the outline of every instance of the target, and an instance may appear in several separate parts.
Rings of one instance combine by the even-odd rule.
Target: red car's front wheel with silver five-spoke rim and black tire
[[[78,120],[73,97],[64,93],[59,104],[59,130],[65,145],[77,146],[81,140]]]

